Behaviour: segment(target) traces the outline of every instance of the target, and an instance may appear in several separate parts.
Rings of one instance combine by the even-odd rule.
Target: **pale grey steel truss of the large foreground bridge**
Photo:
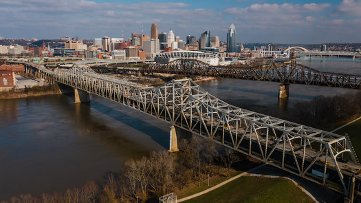
[[[355,156],[344,136],[229,105],[190,79],[149,87],[96,74],[79,65],[70,70],[55,70],[54,78],[303,178],[336,184],[345,193],[348,191],[338,158],[346,153],[355,161]],[[313,170],[322,175],[314,175]],[[336,180],[327,179],[329,173],[336,174]]]

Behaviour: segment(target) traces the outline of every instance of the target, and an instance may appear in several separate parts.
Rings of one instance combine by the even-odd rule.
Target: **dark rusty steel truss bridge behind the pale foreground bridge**
[[[257,67],[212,66],[197,60],[176,60],[170,63],[148,63],[141,72],[216,76],[252,81],[272,81],[285,84],[303,84],[325,87],[361,88],[361,76],[320,72],[296,63],[270,63]]]

